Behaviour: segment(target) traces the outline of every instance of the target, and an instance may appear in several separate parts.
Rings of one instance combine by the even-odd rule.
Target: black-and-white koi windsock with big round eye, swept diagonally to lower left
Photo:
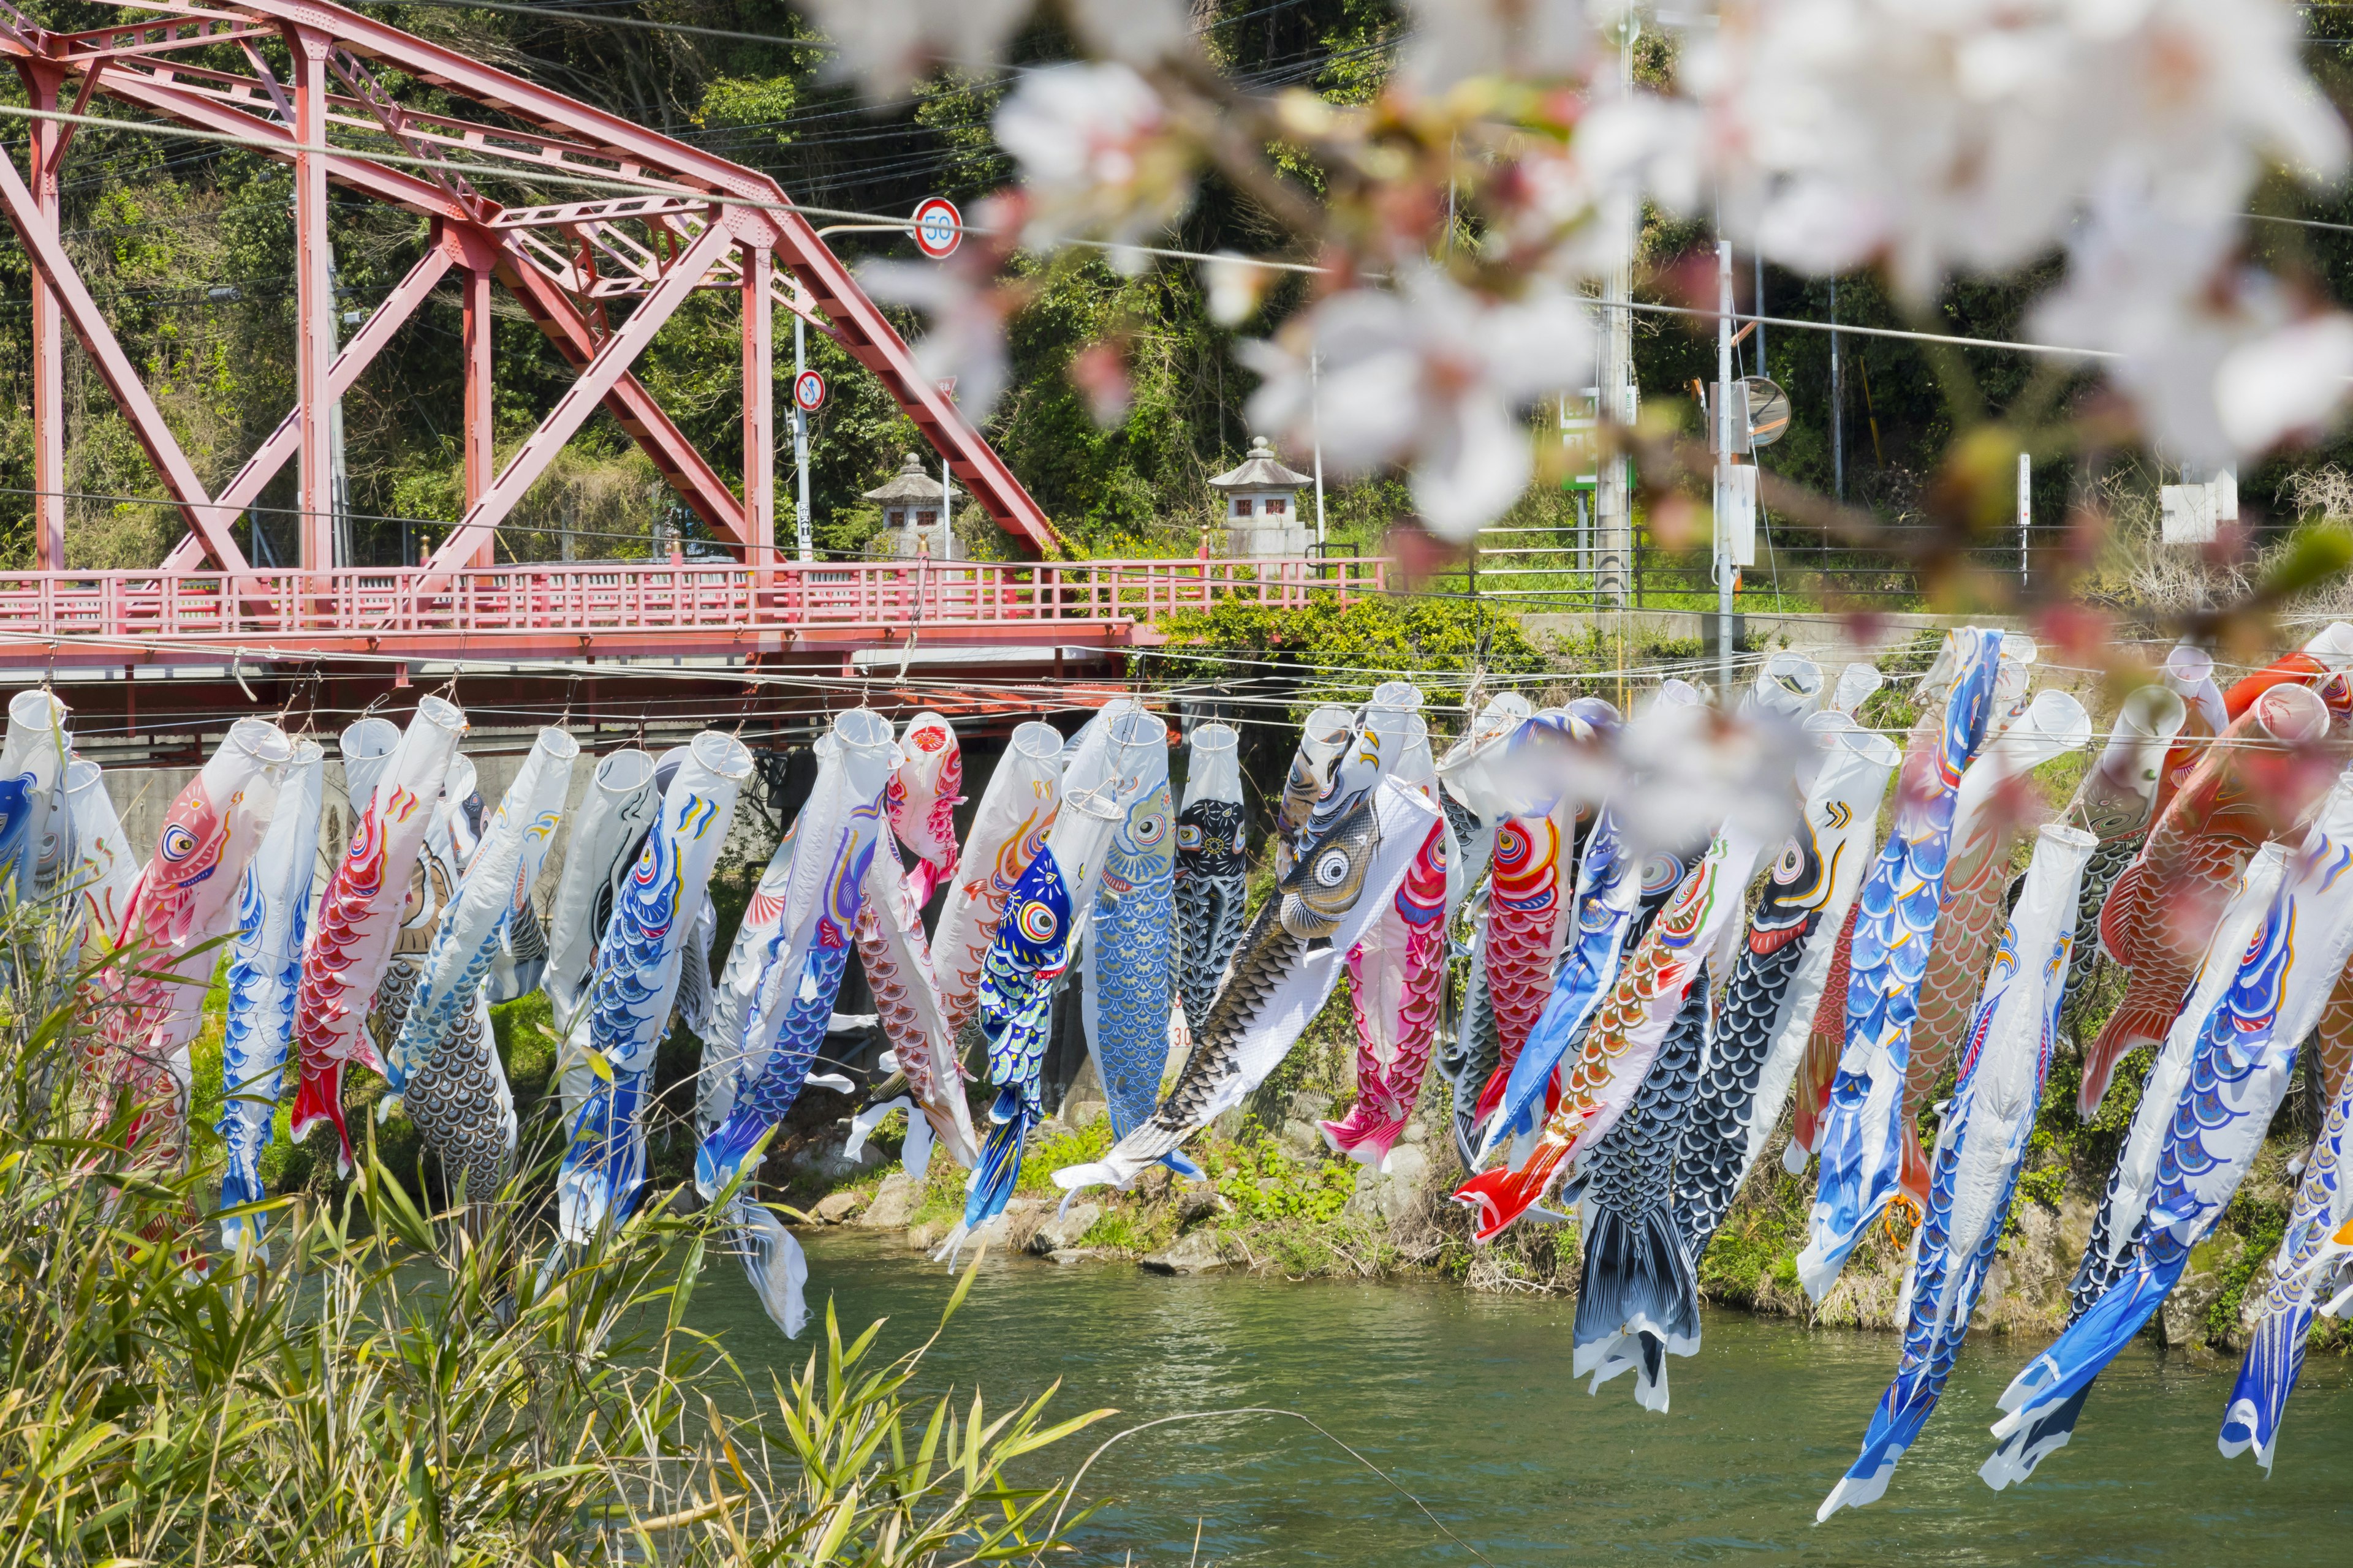
[[[1372,715],[1367,715],[1369,719]],[[1358,741],[1344,743],[1360,759]],[[1259,905],[1207,1018],[1193,1027],[1193,1053],[1151,1119],[1085,1166],[1054,1173],[1066,1192],[1125,1187],[1146,1166],[1233,1110],[1297,1044],[1332,994],[1341,961],[1398,896],[1438,806],[1377,766],[1337,769],[1329,811],[1311,816],[1306,839],[1275,893]]]

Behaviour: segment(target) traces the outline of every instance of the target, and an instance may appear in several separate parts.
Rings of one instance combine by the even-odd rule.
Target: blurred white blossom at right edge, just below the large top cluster
[[[2304,310],[2238,256],[2231,228],[2101,193],[2033,331],[2122,355],[2106,374],[2139,407],[2151,444],[2214,465],[2315,428],[2344,402],[2353,322]]]

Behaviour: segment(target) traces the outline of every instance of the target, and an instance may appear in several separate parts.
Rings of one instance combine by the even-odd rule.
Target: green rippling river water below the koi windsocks
[[[889,1316],[882,1347],[929,1333],[948,1272],[896,1237],[807,1237],[809,1302],[845,1328]],[[807,1354],[760,1316],[734,1265],[711,1269],[701,1326],[765,1380]],[[1572,1307],[1447,1284],[1160,1279],[1129,1265],[991,1258],[922,1387],[979,1382],[1002,1410],[1061,1378],[1052,1410],[1120,1415],[1054,1458],[1181,1410],[1282,1406],[1346,1441],[1492,1563],[2332,1563],[2353,1561],[2353,1366],[2315,1356],[2289,1403],[2275,1479],[2221,1460],[2235,1363],[2134,1345],[2099,1380],[2071,1448],[2035,1481],[1977,1479],[1995,1394],[2040,1345],[1972,1340],[1887,1497],[1814,1523],[1894,1371],[1882,1333],[1711,1312],[1671,1361],[1673,1403],[1631,1375],[1569,1378]],[[814,1333],[821,1333],[816,1328]],[[958,1401],[962,1403],[962,1399]],[[1111,1507],[1078,1563],[1475,1563],[1379,1476],[1294,1420],[1217,1418],[1129,1436],[1089,1472]]]

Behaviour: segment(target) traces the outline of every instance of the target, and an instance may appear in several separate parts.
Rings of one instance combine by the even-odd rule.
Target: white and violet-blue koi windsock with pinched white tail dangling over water
[[[776,1215],[736,1182],[760,1166],[769,1133],[809,1081],[866,907],[866,875],[889,832],[882,795],[901,762],[873,710],[833,719],[816,743],[809,802],[760,877],[711,1011],[729,1034],[706,1034],[699,1100],[708,1121],[694,1150],[694,1190],[706,1201],[727,1199],[744,1274],[786,1338],[807,1321],[809,1265]]]

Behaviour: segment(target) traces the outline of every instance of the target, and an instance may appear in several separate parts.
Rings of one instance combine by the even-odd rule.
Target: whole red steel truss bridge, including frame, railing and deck
[[[0,52],[31,106],[28,169],[0,158],[0,205],[33,263],[33,520],[38,571],[0,574],[0,672],[85,682],[78,708],[136,733],[202,701],[134,677],[212,677],[212,708],[254,677],[398,686],[438,668],[576,684],[562,665],[673,661],[854,675],[861,656],[908,670],[965,649],[1024,658],[1118,651],[1174,607],[1245,595],[1381,588],[1379,562],[880,562],[802,564],[776,552],[774,322],[786,310],[873,371],[899,409],[1014,541],[1059,536],[1021,480],[859,289],[769,176],[713,158],[468,54],[311,0],[129,0],[134,14],[52,31],[0,0]],[[433,108],[407,99],[431,96]],[[96,99],[113,118],[231,139],[292,165],[296,402],[216,491],[174,440],[139,369],[78,275],[59,230],[59,176]],[[122,110],[129,110],[127,115]],[[508,207],[485,169],[595,200]],[[473,174],[475,179],[468,179]],[[400,284],[336,341],[327,190],[431,223]],[[329,411],[445,282],[464,294],[464,512],[416,567],[336,567]],[[492,451],[492,299],[504,289],[574,369],[536,430]],[[744,487],[736,494],[633,374],[696,289],[741,301]],[[153,463],[186,534],[153,571],[66,571],[66,334],[80,343]],[[496,564],[492,541],[595,409],[638,442],[732,559],[718,564]],[[233,524],[294,465],[299,555],[256,567]],[[995,654],[991,654],[995,651]],[[1094,663],[1101,663],[1096,656]],[[1113,661],[1115,663],[1115,661]],[[94,691],[96,682],[106,691]],[[174,679],[172,684],[184,684]],[[645,682],[638,682],[640,686]],[[113,691],[120,686],[120,691]],[[141,693],[141,689],[146,689]],[[273,686],[275,689],[275,686]],[[231,705],[233,698],[231,698]],[[195,712],[195,708],[188,708]]]

